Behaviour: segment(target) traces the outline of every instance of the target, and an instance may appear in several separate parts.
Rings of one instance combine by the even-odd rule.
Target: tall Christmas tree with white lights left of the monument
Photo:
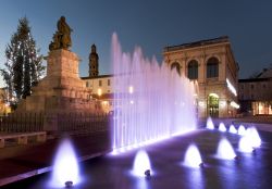
[[[28,20],[18,20],[16,33],[5,49],[7,62],[0,70],[9,91],[9,101],[16,105],[20,99],[32,93],[32,87],[41,79],[45,66],[36,48]]]

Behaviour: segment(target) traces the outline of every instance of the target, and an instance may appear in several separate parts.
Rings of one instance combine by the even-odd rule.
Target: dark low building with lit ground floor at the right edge
[[[272,115],[272,68],[256,78],[239,79],[240,112],[249,115]]]

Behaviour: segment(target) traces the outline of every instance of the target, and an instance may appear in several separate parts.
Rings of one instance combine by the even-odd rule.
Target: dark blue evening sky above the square
[[[109,74],[111,36],[116,32],[124,51],[140,46],[162,61],[165,46],[227,35],[239,63],[240,78],[272,63],[272,1],[270,0],[2,0],[0,66],[17,20],[27,16],[42,54],[61,15],[74,29],[72,51],[88,74],[90,46],[97,45],[100,73]]]

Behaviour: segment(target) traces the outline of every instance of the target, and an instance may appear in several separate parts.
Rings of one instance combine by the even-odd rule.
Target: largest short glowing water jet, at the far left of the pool
[[[69,139],[63,139],[54,158],[52,187],[76,185],[79,181],[77,159]]]

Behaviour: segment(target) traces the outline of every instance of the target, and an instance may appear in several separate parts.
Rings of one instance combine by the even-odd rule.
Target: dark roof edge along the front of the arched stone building
[[[169,46],[164,48],[164,52],[175,51],[175,50],[181,50],[181,49],[188,49],[188,48],[200,47],[200,46],[214,45],[214,43],[222,43],[222,42],[230,42],[228,37],[221,36],[221,37],[213,38],[213,39],[199,40],[195,42],[182,43],[178,46]]]

